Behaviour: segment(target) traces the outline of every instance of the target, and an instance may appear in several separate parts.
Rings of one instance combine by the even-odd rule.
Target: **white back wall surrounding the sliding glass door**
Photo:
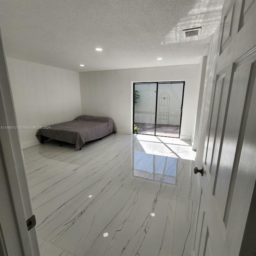
[[[82,114],[113,118],[118,132],[132,133],[132,82],[185,80],[181,138],[190,139],[199,64],[79,73]]]

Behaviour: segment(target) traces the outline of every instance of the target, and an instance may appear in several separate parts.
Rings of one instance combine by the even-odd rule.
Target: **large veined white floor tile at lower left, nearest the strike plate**
[[[80,192],[47,214],[47,220],[38,226],[39,236],[78,256],[104,255],[109,237],[104,239],[103,234],[111,235],[117,230],[139,188],[107,180],[100,182],[99,188]]]

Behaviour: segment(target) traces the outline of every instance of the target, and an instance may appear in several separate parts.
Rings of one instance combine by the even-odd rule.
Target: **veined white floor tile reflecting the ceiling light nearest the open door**
[[[175,208],[175,196],[140,188],[104,255],[172,255]]]

